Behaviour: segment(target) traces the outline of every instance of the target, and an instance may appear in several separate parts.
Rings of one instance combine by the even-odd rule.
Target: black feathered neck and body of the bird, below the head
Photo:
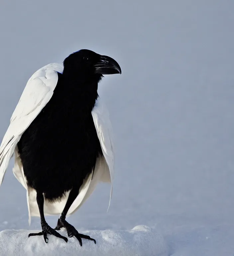
[[[58,74],[51,100],[18,143],[28,185],[48,199],[79,188],[102,154],[91,115],[101,77],[85,74],[85,80],[76,72],[71,79],[70,72]]]

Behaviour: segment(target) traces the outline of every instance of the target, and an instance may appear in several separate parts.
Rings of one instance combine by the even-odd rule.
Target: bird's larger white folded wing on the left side
[[[51,63],[28,80],[0,146],[0,185],[21,135],[51,99],[63,65]]]

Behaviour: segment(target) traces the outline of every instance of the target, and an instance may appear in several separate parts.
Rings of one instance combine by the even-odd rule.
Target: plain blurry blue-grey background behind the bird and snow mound
[[[88,48],[122,68],[99,87],[116,141],[113,200],[106,213],[109,186],[100,184],[69,217],[79,231],[147,225],[168,255],[234,254],[233,9],[232,0],[2,4],[0,138],[41,66]],[[26,192],[11,169],[0,230],[40,229],[37,218],[28,226]],[[57,217],[47,218],[51,226]]]

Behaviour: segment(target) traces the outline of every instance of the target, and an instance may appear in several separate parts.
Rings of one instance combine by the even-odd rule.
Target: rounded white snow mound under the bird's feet
[[[49,242],[45,243],[42,236],[28,237],[29,233],[39,231],[30,230],[3,230],[0,232],[0,254],[4,256],[53,255],[53,256],[166,256],[168,248],[163,237],[149,227],[139,225],[132,230],[91,230],[84,231],[93,241],[82,239],[80,247],[75,237],[68,238],[66,243],[62,239],[48,235]],[[66,231],[61,229],[60,234],[67,237]]]

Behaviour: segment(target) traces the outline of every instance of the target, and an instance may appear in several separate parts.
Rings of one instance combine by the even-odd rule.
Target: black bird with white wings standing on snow
[[[0,146],[0,185],[14,156],[13,173],[27,190],[31,216],[41,220],[42,231],[68,241],[68,237],[96,240],[79,233],[66,221],[92,194],[98,182],[114,178],[114,139],[109,112],[98,95],[104,75],[121,74],[113,58],[81,49],[62,64],[50,63],[28,80],[11,116]],[[108,207],[109,209],[109,207]],[[60,214],[56,228],[45,216]],[[33,239],[33,238],[30,238]]]

